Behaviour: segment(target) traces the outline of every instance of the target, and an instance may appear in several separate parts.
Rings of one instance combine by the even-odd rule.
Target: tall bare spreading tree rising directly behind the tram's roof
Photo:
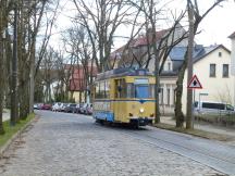
[[[73,2],[78,13],[76,22],[87,29],[98,71],[110,70],[109,56],[114,33],[121,24],[126,22],[129,7],[123,3],[124,0],[96,0],[90,3],[73,0]]]

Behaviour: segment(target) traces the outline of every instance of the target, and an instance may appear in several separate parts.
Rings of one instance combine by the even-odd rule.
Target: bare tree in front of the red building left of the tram
[[[64,34],[64,42],[71,59],[75,59],[73,67],[75,67],[76,73],[72,73],[71,84],[74,89],[79,90],[79,102],[82,101],[83,92],[86,101],[88,89],[92,84],[94,72],[96,72],[92,47],[86,28],[74,23],[73,27]],[[76,76],[76,80],[73,76]]]

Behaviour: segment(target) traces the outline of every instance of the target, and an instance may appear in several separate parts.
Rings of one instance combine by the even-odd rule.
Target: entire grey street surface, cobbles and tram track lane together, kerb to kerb
[[[0,175],[235,175],[233,146],[149,126],[102,126],[81,114],[37,114],[0,161]]]

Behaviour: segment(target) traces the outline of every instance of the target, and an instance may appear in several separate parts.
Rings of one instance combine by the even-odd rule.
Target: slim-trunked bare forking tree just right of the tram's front
[[[181,20],[184,17],[185,12],[182,12],[178,16],[174,16],[173,25],[161,33],[157,32],[157,23],[159,18],[163,16],[165,12],[165,4],[160,4],[154,0],[128,0],[131,5],[138,9],[144,13],[146,24],[146,52],[140,58],[141,63],[145,63],[145,67],[148,67],[150,60],[154,60],[154,74],[156,74],[156,123],[160,123],[160,106],[159,106],[159,90],[160,90],[160,73],[163,68],[165,60],[171,52],[172,48],[181,42],[187,36],[187,33],[182,34],[181,37],[175,37],[175,33],[180,25]],[[166,21],[166,18],[164,18]],[[144,60],[144,61],[143,61]],[[160,64],[161,63],[161,64]]]

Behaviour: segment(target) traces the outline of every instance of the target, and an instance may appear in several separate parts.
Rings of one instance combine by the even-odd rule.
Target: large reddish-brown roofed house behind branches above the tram
[[[187,35],[186,30],[182,25],[176,25],[175,32],[172,33],[171,29],[162,29],[159,32],[156,32],[156,41],[159,42],[161,38],[166,36],[170,33],[170,38],[166,41],[168,46],[170,46],[173,41],[176,41],[178,38]],[[131,40],[128,43],[122,46],[118,50],[113,51],[110,54],[110,64],[113,65],[113,68],[116,67],[145,67],[147,65],[147,62],[149,60],[148,56],[148,45],[152,41],[152,32],[151,29],[148,29],[147,35],[139,35],[137,38]],[[178,47],[186,47],[187,46],[187,39],[183,39],[180,43],[177,43]],[[152,53],[152,49],[150,49],[150,52]],[[153,67],[154,60],[150,58],[149,65]],[[152,68],[150,68],[152,70]]]

